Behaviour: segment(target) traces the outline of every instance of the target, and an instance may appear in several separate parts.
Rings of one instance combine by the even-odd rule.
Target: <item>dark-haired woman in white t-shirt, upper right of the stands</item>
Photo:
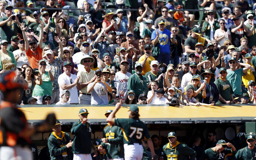
[[[226,40],[232,40],[230,30],[225,27],[225,20],[221,19],[219,25],[220,29],[216,30],[214,33],[214,39],[219,41],[218,47],[224,45]]]

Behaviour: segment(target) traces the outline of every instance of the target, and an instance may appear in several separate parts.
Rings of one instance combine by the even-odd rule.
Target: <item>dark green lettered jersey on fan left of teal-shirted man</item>
[[[223,81],[221,78],[217,79],[215,82],[216,87],[218,88],[218,91],[222,98],[224,98],[226,101],[231,101],[230,95],[233,94],[233,90],[231,87],[231,84],[228,80]],[[222,104],[222,102],[219,101],[216,104]]]

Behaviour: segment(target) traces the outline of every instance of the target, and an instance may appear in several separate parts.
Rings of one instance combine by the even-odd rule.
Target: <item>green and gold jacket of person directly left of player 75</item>
[[[108,159],[124,158],[124,143],[122,129],[118,126],[105,126],[103,130],[103,138],[108,139],[108,143],[101,143],[106,148]]]

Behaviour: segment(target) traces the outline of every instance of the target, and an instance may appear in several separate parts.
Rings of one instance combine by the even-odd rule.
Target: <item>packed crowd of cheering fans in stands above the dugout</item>
[[[180,0],[116,1],[116,12],[78,0],[78,19],[63,0],[40,12],[1,0],[0,74],[28,86],[18,105],[256,103],[255,14],[230,2],[218,13],[198,1],[208,10],[200,28]]]

